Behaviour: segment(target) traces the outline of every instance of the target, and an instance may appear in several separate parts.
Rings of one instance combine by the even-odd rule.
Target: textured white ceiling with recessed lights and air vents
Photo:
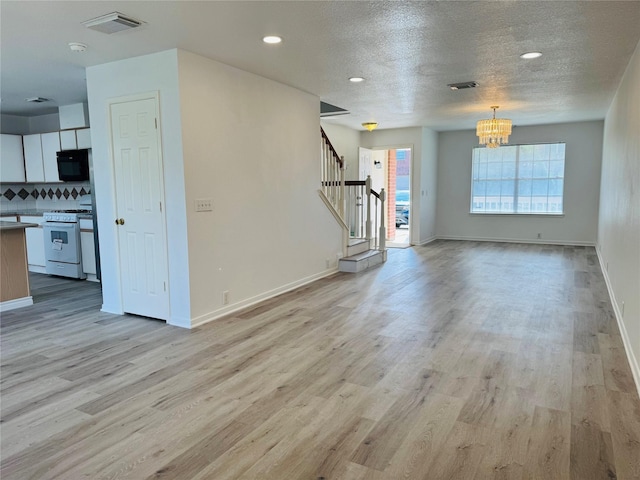
[[[82,25],[113,11],[146,24],[113,35]],[[349,110],[338,124],[451,130],[494,104],[515,125],[604,118],[640,40],[640,1],[2,0],[0,22],[2,113],[56,112],[86,101],[85,67],[182,48]],[[265,45],[267,34],[284,42]],[[519,58],[532,50],[543,57]],[[447,88],[469,80],[479,87]]]

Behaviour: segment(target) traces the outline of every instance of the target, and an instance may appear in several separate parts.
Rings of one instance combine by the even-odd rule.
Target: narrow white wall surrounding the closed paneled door
[[[109,153],[108,101],[159,92],[166,196],[171,313],[169,322],[190,325],[189,262],[176,50],[87,68],[94,187],[99,225],[103,310],[122,313],[118,269],[114,173]]]

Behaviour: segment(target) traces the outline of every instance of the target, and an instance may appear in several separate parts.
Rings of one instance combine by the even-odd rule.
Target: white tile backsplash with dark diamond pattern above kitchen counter
[[[89,182],[0,184],[0,211],[80,208],[80,198],[90,194]]]

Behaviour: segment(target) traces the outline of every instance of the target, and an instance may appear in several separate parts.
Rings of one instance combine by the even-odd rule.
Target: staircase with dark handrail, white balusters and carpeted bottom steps
[[[344,157],[340,157],[322,128],[322,182],[318,191],[342,227],[341,272],[357,273],[387,260],[385,247],[384,189],[371,189],[366,180],[344,179]]]

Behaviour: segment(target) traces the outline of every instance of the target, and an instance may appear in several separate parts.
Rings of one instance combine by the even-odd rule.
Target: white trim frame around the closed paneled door
[[[146,93],[138,93],[138,94],[134,94],[134,95],[124,95],[124,96],[120,96],[120,97],[113,97],[113,98],[109,98],[107,100],[107,128],[108,128],[108,134],[109,134],[109,141],[108,141],[108,146],[109,146],[109,161],[110,161],[110,169],[111,169],[111,175],[113,178],[113,183],[111,184],[111,199],[112,199],[112,211],[113,213],[117,216],[118,214],[118,202],[117,202],[117,192],[116,192],[116,168],[115,168],[115,157],[114,157],[114,152],[113,152],[113,128],[112,128],[112,116],[111,116],[111,107],[112,105],[116,105],[119,103],[130,103],[130,102],[136,102],[136,101],[141,101],[141,100],[153,100],[155,103],[155,116],[156,116],[156,122],[157,122],[157,128],[156,128],[156,141],[157,141],[157,147],[158,147],[158,163],[160,164],[160,172],[159,172],[159,178],[161,179],[160,182],[160,196],[162,198],[161,202],[163,205],[162,208],[162,212],[160,215],[161,218],[161,228],[162,228],[162,240],[164,241],[164,262],[165,262],[165,273],[166,273],[166,282],[167,282],[167,290],[166,290],[166,295],[167,295],[167,311],[165,312],[165,321],[167,323],[169,323],[170,319],[171,319],[171,276],[169,275],[169,244],[168,244],[168,237],[167,237],[167,199],[166,199],[166,191],[165,191],[165,175],[164,175],[164,152],[162,150],[162,118],[160,116],[160,92],[158,90],[154,90],[151,92],[146,92]],[[112,224],[112,228],[113,228],[113,224]],[[119,236],[115,235],[116,238],[116,242],[114,244],[114,250],[115,250],[115,258],[118,259],[118,262],[116,264],[116,271],[118,272],[118,293],[120,295],[120,311],[124,314],[125,309],[124,309],[124,294],[122,291],[122,269],[120,266],[120,242],[118,241]]]

